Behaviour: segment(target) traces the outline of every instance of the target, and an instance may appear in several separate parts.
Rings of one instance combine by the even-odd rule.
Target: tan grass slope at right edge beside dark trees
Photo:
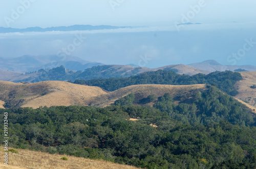
[[[239,94],[235,97],[237,99],[246,101],[249,105],[256,109],[256,89],[250,88],[250,86],[256,85],[256,71],[239,73],[241,73],[243,80],[238,81],[236,84]]]

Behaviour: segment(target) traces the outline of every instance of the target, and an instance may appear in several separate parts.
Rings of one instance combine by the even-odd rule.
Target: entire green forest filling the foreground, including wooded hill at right
[[[179,104],[168,94],[147,99],[154,107],[132,105],[131,94],[119,106],[10,108],[0,114],[3,119],[8,112],[14,148],[142,168],[256,167],[255,114],[230,96],[209,87]]]

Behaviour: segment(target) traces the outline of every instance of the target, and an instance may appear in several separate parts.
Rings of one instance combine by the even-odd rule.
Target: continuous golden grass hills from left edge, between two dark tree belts
[[[193,89],[202,89],[204,86],[134,85],[108,93],[99,87],[77,85],[65,81],[41,81],[26,84],[0,81],[0,100],[2,100],[0,106],[4,102],[12,106],[33,108],[54,105],[106,106],[130,93],[134,93],[140,98],[151,94],[159,97],[165,93],[175,96]]]

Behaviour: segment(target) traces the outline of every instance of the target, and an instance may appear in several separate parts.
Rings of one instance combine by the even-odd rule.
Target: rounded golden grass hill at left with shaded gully
[[[14,83],[0,81],[0,100],[12,106],[87,105],[91,97],[106,93],[99,87],[76,85],[65,81]]]

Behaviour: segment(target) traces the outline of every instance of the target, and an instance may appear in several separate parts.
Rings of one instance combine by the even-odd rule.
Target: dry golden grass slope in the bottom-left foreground
[[[8,165],[3,163],[4,161],[4,151],[0,151],[1,163],[0,168],[90,168],[90,169],[136,169],[137,167],[116,164],[113,162],[103,161],[103,160],[91,160],[82,157],[66,156],[67,161],[61,160],[63,155],[48,154],[41,152],[34,152],[29,150],[19,150],[18,154],[9,152]]]

